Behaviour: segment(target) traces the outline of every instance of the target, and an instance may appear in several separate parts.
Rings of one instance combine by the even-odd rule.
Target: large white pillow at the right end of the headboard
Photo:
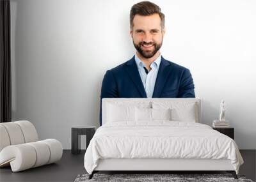
[[[153,109],[171,109],[172,121],[199,122],[197,102],[152,102]]]

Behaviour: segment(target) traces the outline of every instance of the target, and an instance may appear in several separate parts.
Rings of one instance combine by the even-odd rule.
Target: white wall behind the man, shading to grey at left
[[[12,0],[13,121],[70,149],[72,125],[99,126],[106,70],[134,54],[138,1]],[[164,58],[186,66],[211,125],[221,99],[241,149],[256,149],[256,1],[152,1],[166,15]]]

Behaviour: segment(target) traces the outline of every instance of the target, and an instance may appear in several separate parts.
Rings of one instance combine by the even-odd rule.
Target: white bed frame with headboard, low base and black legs
[[[201,122],[201,100],[200,98],[103,98],[102,99],[102,125],[106,123],[106,106],[109,102],[151,102],[172,100],[173,102],[195,102],[198,104],[198,123]],[[93,174],[100,171],[132,172],[147,171],[147,173],[170,173],[186,171],[226,171],[237,179],[236,171],[230,160],[211,159],[163,159],[163,158],[108,158],[100,159],[89,179]]]

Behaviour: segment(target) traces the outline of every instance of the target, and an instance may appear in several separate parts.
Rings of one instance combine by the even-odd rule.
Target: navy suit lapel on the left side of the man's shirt
[[[128,72],[129,77],[131,77],[132,82],[134,82],[135,86],[140,92],[141,97],[147,98],[147,93],[143,86],[143,82],[141,80],[134,56],[125,64],[125,70]]]

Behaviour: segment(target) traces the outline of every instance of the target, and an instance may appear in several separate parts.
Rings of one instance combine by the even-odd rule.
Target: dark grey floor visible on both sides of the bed
[[[239,174],[255,181],[256,151],[241,150],[244,164]],[[72,155],[70,150],[64,150],[61,160],[57,163],[44,165],[21,172],[12,172],[10,167],[0,169],[0,181],[74,181],[78,174],[86,173],[83,165],[84,151],[79,155]]]

